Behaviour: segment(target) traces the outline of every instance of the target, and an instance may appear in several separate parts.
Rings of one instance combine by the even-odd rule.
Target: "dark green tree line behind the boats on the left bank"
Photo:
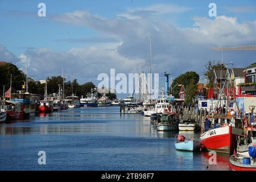
[[[5,92],[10,88],[10,79],[12,80],[11,81],[12,93],[18,90],[24,90],[24,88],[22,88],[22,85],[26,83],[26,74],[20,71],[16,67],[16,65],[11,63],[6,63],[0,66],[0,95],[1,96],[3,93],[3,85],[5,85]],[[46,80],[47,80],[48,94],[59,93],[59,84],[61,85],[61,88],[63,88],[63,77],[61,76],[47,77]],[[93,89],[96,88],[93,82],[86,82],[85,84],[80,85],[77,82],[77,79],[74,79],[72,82],[67,81],[65,79],[65,85],[64,85],[65,96],[72,95],[72,84],[73,84],[73,94],[79,97],[81,96],[86,97],[86,94],[88,92],[91,92],[92,88]],[[45,87],[46,87],[45,83],[41,84],[40,81],[35,81],[32,78],[28,78],[29,93],[40,94],[44,96]],[[106,95],[109,96],[110,99],[116,98],[115,94],[106,93]],[[101,97],[101,94],[98,93],[98,96]]]

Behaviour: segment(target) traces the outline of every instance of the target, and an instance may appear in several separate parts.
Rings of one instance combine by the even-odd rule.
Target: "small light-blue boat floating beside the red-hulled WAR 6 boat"
[[[201,147],[201,142],[198,140],[186,140],[183,135],[179,135],[177,141],[174,143],[176,150],[181,151],[199,151]]]

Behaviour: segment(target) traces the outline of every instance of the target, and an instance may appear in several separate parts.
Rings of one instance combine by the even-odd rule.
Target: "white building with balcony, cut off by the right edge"
[[[256,75],[256,63],[251,64],[245,69],[244,72],[245,82],[239,84],[241,86],[242,93],[256,95],[255,75]]]

